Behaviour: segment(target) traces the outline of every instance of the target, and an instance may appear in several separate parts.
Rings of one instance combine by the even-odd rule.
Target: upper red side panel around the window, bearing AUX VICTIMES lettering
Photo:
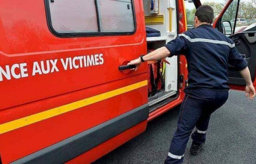
[[[57,38],[48,29],[43,1],[1,1],[0,31],[6,35],[0,40],[0,66],[5,69],[6,65],[26,63],[28,77],[4,78],[0,82],[1,91],[6,93],[1,97],[0,109],[145,73],[146,65],[130,74],[118,71],[124,61],[147,52],[140,3],[135,1],[137,30],[134,35]],[[64,70],[61,63],[61,59],[95,54],[103,55],[102,65]],[[33,76],[34,62],[50,59],[57,59],[59,71]],[[79,61],[75,64],[79,65]],[[16,73],[20,73],[19,69]]]

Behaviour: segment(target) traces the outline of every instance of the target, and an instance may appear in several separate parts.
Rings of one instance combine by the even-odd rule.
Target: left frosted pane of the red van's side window
[[[49,0],[52,27],[59,33],[98,32],[94,0]]]

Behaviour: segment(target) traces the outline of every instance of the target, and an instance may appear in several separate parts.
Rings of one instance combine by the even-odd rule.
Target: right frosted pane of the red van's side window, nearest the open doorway
[[[132,32],[134,30],[131,0],[99,0],[99,17],[102,32]]]

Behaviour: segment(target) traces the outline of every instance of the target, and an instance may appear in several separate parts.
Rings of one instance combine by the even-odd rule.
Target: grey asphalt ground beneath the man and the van
[[[94,164],[162,164],[176,130],[179,109],[148,123],[147,130]],[[183,164],[256,164],[256,99],[241,91],[230,91],[226,104],[211,116],[203,151],[189,153]]]

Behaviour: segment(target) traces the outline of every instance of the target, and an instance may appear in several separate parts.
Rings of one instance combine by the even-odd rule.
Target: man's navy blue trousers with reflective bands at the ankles
[[[228,91],[192,89],[185,90],[185,93],[177,121],[177,130],[173,134],[165,164],[183,162],[189,136],[195,127],[196,130],[191,136],[193,142],[206,141],[206,130],[211,114],[225,104],[229,97]]]

